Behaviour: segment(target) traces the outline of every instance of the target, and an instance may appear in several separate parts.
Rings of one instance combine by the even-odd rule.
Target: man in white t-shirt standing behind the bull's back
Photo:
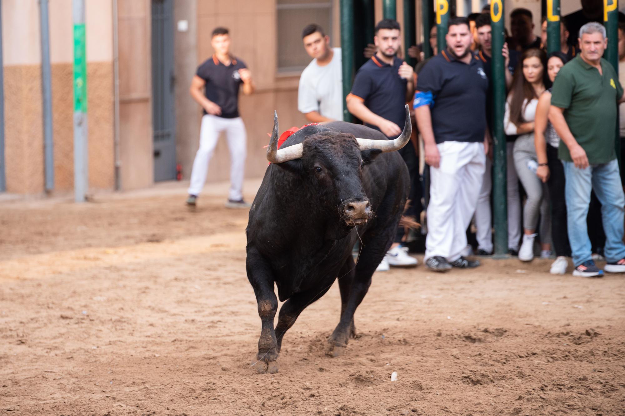
[[[299,78],[297,109],[310,122],[342,120],[341,48],[331,48],[330,37],[314,23],[304,27],[302,39],[313,59]]]

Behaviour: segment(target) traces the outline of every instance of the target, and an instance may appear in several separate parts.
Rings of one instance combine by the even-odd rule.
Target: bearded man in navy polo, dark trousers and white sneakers
[[[396,57],[397,49],[401,46],[397,21],[380,21],[376,25],[375,33],[377,52],[358,70],[352,91],[347,96],[347,110],[364,121],[366,126],[394,139],[401,133],[399,126],[404,126],[404,106],[414,92],[414,71],[406,62]],[[409,199],[412,202],[406,214],[416,216],[421,212],[419,161],[412,142],[408,142],[399,153],[406,162],[411,179]],[[402,237],[403,227],[400,227],[396,242],[377,270],[388,270],[389,265],[417,265],[417,260],[407,254],[407,247],[399,244]]]

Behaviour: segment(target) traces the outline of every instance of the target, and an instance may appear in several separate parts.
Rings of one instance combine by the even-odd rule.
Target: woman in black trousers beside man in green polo
[[[549,81],[556,79],[557,72],[566,64],[566,55],[551,52],[547,59]],[[551,106],[551,88],[538,99],[536,120],[534,121],[534,146],[538,157],[536,176],[549,187],[551,197],[551,235],[556,252],[556,261],[551,265],[551,274],[565,274],[571,256],[571,246],[566,229],[566,200],[564,199],[564,167],[557,157],[560,137],[547,118]],[[548,145],[548,146],[547,146]]]

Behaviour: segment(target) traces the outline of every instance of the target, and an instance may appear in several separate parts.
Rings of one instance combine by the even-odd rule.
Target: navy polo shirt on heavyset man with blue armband
[[[482,64],[477,56],[465,64],[441,51],[419,72],[417,91],[431,92],[434,99],[430,111],[437,144],[484,141],[488,77]]]

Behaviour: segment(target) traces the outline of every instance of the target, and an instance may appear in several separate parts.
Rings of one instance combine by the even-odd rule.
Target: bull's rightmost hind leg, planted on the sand
[[[382,261],[389,247],[391,247],[394,233],[395,229],[388,227],[384,229],[382,235],[377,234],[373,237],[368,235],[363,239],[362,251],[353,272],[351,285],[349,285],[347,301],[344,302],[344,306],[341,308],[341,320],[328,339],[328,354],[332,355],[332,357],[342,355],[345,351],[347,342],[352,335],[352,330],[354,330],[354,313],[356,308],[369,290],[371,276],[376,271],[377,265]]]

